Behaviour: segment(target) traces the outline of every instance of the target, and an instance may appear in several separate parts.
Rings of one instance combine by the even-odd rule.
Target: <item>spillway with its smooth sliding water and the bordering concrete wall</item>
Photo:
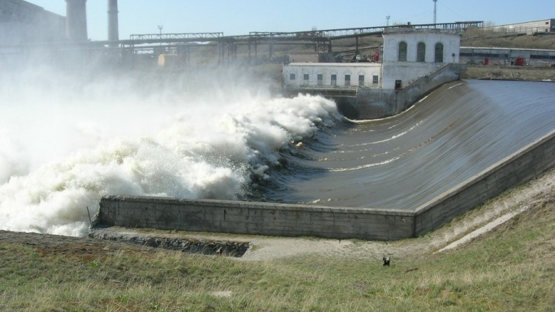
[[[451,83],[400,116],[323,128],[300,150],[283,152],[287,165],[271,172],[262,192],[271,202],[110,196],[100,222],[339,239],[418,236],[555,165],[552,93],[550,83]]]

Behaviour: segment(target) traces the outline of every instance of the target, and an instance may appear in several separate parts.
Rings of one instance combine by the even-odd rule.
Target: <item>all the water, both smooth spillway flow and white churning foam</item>
[[[237,81],[46,73],[0,78],[0,229],[84,235],[106,194],[413,209],[555,126],[551,83],[458,82],[351,122]]]

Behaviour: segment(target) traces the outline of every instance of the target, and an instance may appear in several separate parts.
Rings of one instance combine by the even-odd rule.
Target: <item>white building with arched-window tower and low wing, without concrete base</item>
[[[286,87],[399,89],[448,63],[459,62],[460,36],[437,30],[403,29],[384,34],[381,63],[289,63]]]

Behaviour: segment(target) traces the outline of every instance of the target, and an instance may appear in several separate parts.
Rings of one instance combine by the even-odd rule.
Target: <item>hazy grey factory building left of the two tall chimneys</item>
[[[0,0],[0,45],[65,40],[66,19],[22,0]]]

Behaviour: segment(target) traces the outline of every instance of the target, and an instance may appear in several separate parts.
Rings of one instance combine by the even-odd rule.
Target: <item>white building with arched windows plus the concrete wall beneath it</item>
[[[350,119],[379,119],[400,114],[461,77],[459,33],[405,28],[386,31],[383,39],[383,50],[377,51],[381,57],[375,55],[374,62],[284,64],[284,92],[334,98]]]

